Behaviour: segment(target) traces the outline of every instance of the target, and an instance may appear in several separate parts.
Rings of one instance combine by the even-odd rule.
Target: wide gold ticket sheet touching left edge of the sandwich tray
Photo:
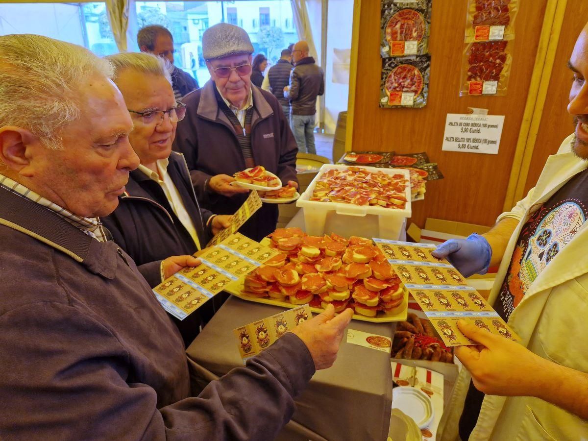
[[[200,265],[183,268],[156,286],[153,293],[167,312],[183,320],[276,253],[236,233],[198,256]]]

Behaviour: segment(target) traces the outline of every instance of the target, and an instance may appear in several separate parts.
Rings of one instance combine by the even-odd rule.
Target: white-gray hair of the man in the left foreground
[[[82,46],[40,35],[0,36],[0,127],[25,128],[61,149],[60,129],[81,115],[82,82],[113,74],[109,61]]]

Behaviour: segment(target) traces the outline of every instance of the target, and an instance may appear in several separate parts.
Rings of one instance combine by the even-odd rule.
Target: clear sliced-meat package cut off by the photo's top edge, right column
[[[468,0],[466,43],[512,40],[520,0]]]

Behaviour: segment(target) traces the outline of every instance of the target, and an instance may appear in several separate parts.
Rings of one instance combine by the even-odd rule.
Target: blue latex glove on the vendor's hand
[[[464,277],[472,274],[486,274],[492,258],[488,241],[473,233],[467,239],[450,239],[437,246],[433,255],[447,258]]]

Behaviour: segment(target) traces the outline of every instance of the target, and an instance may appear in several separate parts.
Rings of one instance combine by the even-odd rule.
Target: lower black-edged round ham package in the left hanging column
[[[430,55],[383,58],[380,107],[425,107],[430,65]]]

